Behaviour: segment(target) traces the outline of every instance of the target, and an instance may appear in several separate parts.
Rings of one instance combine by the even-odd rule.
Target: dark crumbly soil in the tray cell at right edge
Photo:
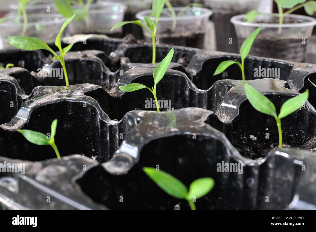
[[[279,148],[278,143],[273,142],[258,142],[253,137],[242,138],[241,143],[233,144],[234,147],[239,151],[239,153],[249,159],[256,160],[258,158],[264,158],[270,151]],[[283,147],[292,147],[288,144],[283,144]],[[305,149],[309,151],[316,150],[316,137],[309,139],[306,143],[299,147],[292,147],[297,149]]]

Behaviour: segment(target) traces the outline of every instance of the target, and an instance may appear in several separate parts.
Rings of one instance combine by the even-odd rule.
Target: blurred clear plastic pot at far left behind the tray
[[[50,43],[55,41],[65,18],[60,14],[45,13],[29,14],[27,20],[25,36],[36,37]],[[14,48],[8,44],[5,36],[22,35],[23,27],[23,17],[20,22],[16,22],[16,16],[8,16],[0,25],[0,49]]]

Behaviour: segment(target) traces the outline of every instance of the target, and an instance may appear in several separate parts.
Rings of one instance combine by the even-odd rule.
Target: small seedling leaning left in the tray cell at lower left
[[[18,132],[20,132],[31,143],[36,145],[50,145],[54,149],[58,160],[60,160],[60,154],[55,144],[56,127],[57,119],[52,122],[51,135],[49,139],[47,138],[47,135],[33,130],[18,130]]]

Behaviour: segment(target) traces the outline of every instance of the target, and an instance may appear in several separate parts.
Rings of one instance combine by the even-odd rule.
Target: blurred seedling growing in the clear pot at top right
[[[285,15],[291,14],[297,9],[300,9],[301,7],[304,7],[306,13],[310,16],[314,15],[314,12],[316,11],[316,1],[306,1],[306,0],[274,0],[276,2],[277,8],[278,8],[278,14],[271,14],[271,13],[262,13],[257,10],[251,10],[246,15],[245,18],[247,22],[252,22],[255,20],[259,15],[273,15],[279,17],[279,24],[283,24],[283,18]],[[302,3],[302,4],[300,4]],[[289,9],[285,13],[283,12],[283,9]],[[282,28],[279,28],[279,32],[282,31]]]

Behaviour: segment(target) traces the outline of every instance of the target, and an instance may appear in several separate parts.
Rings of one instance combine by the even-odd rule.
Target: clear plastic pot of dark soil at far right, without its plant
[[[262,24],[262,29],[252,44],[249,55],[304,62],[306,47],[312,35],[316,20],[301,15],[284,16],[279,25],[279,17],[260,15],[253,22],[246,22],[245,15],[234,16],[231,22],[235,26],[238,47]]]

